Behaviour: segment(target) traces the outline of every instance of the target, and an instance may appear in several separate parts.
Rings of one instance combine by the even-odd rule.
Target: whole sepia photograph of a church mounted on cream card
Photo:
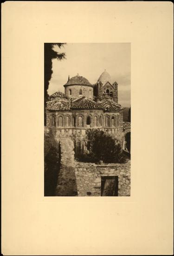
[[[130,196],[130,50],[44,44],[45,196]]]

